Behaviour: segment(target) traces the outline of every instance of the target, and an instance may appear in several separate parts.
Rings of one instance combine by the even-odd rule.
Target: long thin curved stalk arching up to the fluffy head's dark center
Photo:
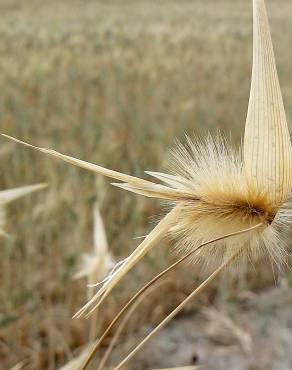
[[[209,240],[203,244],[201,244],[200,246],[198,246],[196,249],[190,251],[189,253],[187,253],[185,256],[181,257],[178,261],[174,262],[171,266],[169,266],[168,268],[166,268],[165,270],[163,270],[160,274],[156,275],[152,280],[150,280],[147,284],[145,284],[127,303],[126,305],[120,310],[120,312],[115,316],[115,318],[113,319],[113,321],[109,324],[109,326],[106,328],[106,330],[104,331],[104,333],[102,334],[102,336],[97,340],[95,346],[93,347],[93,349],[91,350],[91,352],[89,353],[88,357],[86,358],[86,360],[84,361],[82,367],[80,368],[80,370],[85,370],[87,365],[89,364],[89,362],[92,360],[93,356],[95,355],[95,353],[97,352],[97,350],[99,349],[99,347],[101,346],[101,344],[103,343],[104,339],[106,338],[106,336],[108,335],[108,333],[110,332],[110,330],[113,328],[113,326],[116,324],[116,322],[120,319],[120,317],[123,315],[123,313],[128,309],[128,307],[146,290],[148,289],[152,284],[154,284],[157,280],[161,279],[164,275],[166,275],[168,272],[170,272],[171,270],[173,270],[177,265],[179,265],[180,263],[182,263],[184,260],[186,260],[188,257],[190,257],[191,255],[195,254],[199,249],[201,249],[202,247],[208,245],[208,244],[211,244],[211,243],[215,243],[217,241],[220,241],[222,239],[227,239],[227,238],[230,238],[232,236],[236,236],[236,235],[240,235],[240,234],[244,234],[246,232],[249,232],[249,231],[252,231],[254,229],[257,229],[259,228],[260,226],[262,226],[262,224],[258,224],[256,226],[253,226],[253,227],[250,227],[248,229],[244,229],[244,230],[240,230],[238,232],[235,232],[235,233],[231,233],[231,234],[227,234],[227,235],[224,235],[224,236],[221,236],[221,237],[218,237],[216,239],[212,239],[212,240]]]

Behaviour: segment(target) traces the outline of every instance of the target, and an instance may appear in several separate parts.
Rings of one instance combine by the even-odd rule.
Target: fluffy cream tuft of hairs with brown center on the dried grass
[[[258,259],[268,252],[273,261],[281,264],[285,249],[279,232],[292,216],[289,207],[280,209],[266,191],[260,192],[251,185],[241,151],[232,149],[222,137],[187,141],[187,147],[178,144],[171,160],[171,185],[193,194],[192,198],[182,197],[175,202],[180,212],[170,234],[176,239],[178,249],[195,249],[220,235],[262,224],[248,234],[200,249],[196,261],[213,267],[248,244],[246,256],[250,259]]]

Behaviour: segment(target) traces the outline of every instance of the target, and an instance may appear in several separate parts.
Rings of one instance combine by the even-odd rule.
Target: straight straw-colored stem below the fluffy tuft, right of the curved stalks
[[[194,297],[196,297],[204,288],[206,288],[218,275],[238,258],[243,248],[234,253],[227,261],[222,263],[201,285],[198,286],[179,306],[177,306],[155,329],[152,330],[129,354],[124,358],[114,370],[120,370],[155,334],[157,334],[169,321],[171,321]]]

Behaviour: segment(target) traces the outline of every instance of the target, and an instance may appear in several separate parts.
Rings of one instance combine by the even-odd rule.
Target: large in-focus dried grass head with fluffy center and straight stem
[[[251,91],[244,140],[238,150],[220,135],[202,140],[187,138],[186,146],[177,144],[172,152],[170,173],[148,172],[160,180],[156,183],[4,135],[55,158],[118,180],[120,183],[115,186],[161,199],[171,207],[136,250],[104,281],[77,317],[97,309],[123,276],[167,235],[176,241],[179,250],[197,251],[192,258],[195,263],[215,268],[114,370],[121,369],[231,264],[262,257],[278,266],[286,262],[285,229],[289,227],[292,215],[289,204],[291,143],[264,0],[253,0],[253,21]],[[230,233],[232,237],[224,237]]]

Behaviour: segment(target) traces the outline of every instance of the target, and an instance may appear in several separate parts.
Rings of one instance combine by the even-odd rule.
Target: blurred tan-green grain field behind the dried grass
[[[291,121],[292,2],[267,5]],[[250,85],[250,1],[1,0],[0,12],[2,132],[137,176],[165,168],[168,149],[185,132],[220,129],[239,143]],[[1,148],[7,144],[1,139]],[[8,210],[10,236],[0,241],[0,368],[25,360],[27,369],[55,369],[87,338],[86,321],[71,320],[86,299],[85,282],[72,276],[92,246],[99,186],[93,174],[19,146],[0,161],[1,189],[50,185]],[[122,258],[162,211],[109,182],[102,192],[111,250]],[[115,290],[101,326],[172,260],[163,244]],[[273,284],[266,273],[259,269],[253,285]],[[163,288],[165,299],[149,298],[131,330],[157,321],[196,276],[192,266],[179,269]]]

